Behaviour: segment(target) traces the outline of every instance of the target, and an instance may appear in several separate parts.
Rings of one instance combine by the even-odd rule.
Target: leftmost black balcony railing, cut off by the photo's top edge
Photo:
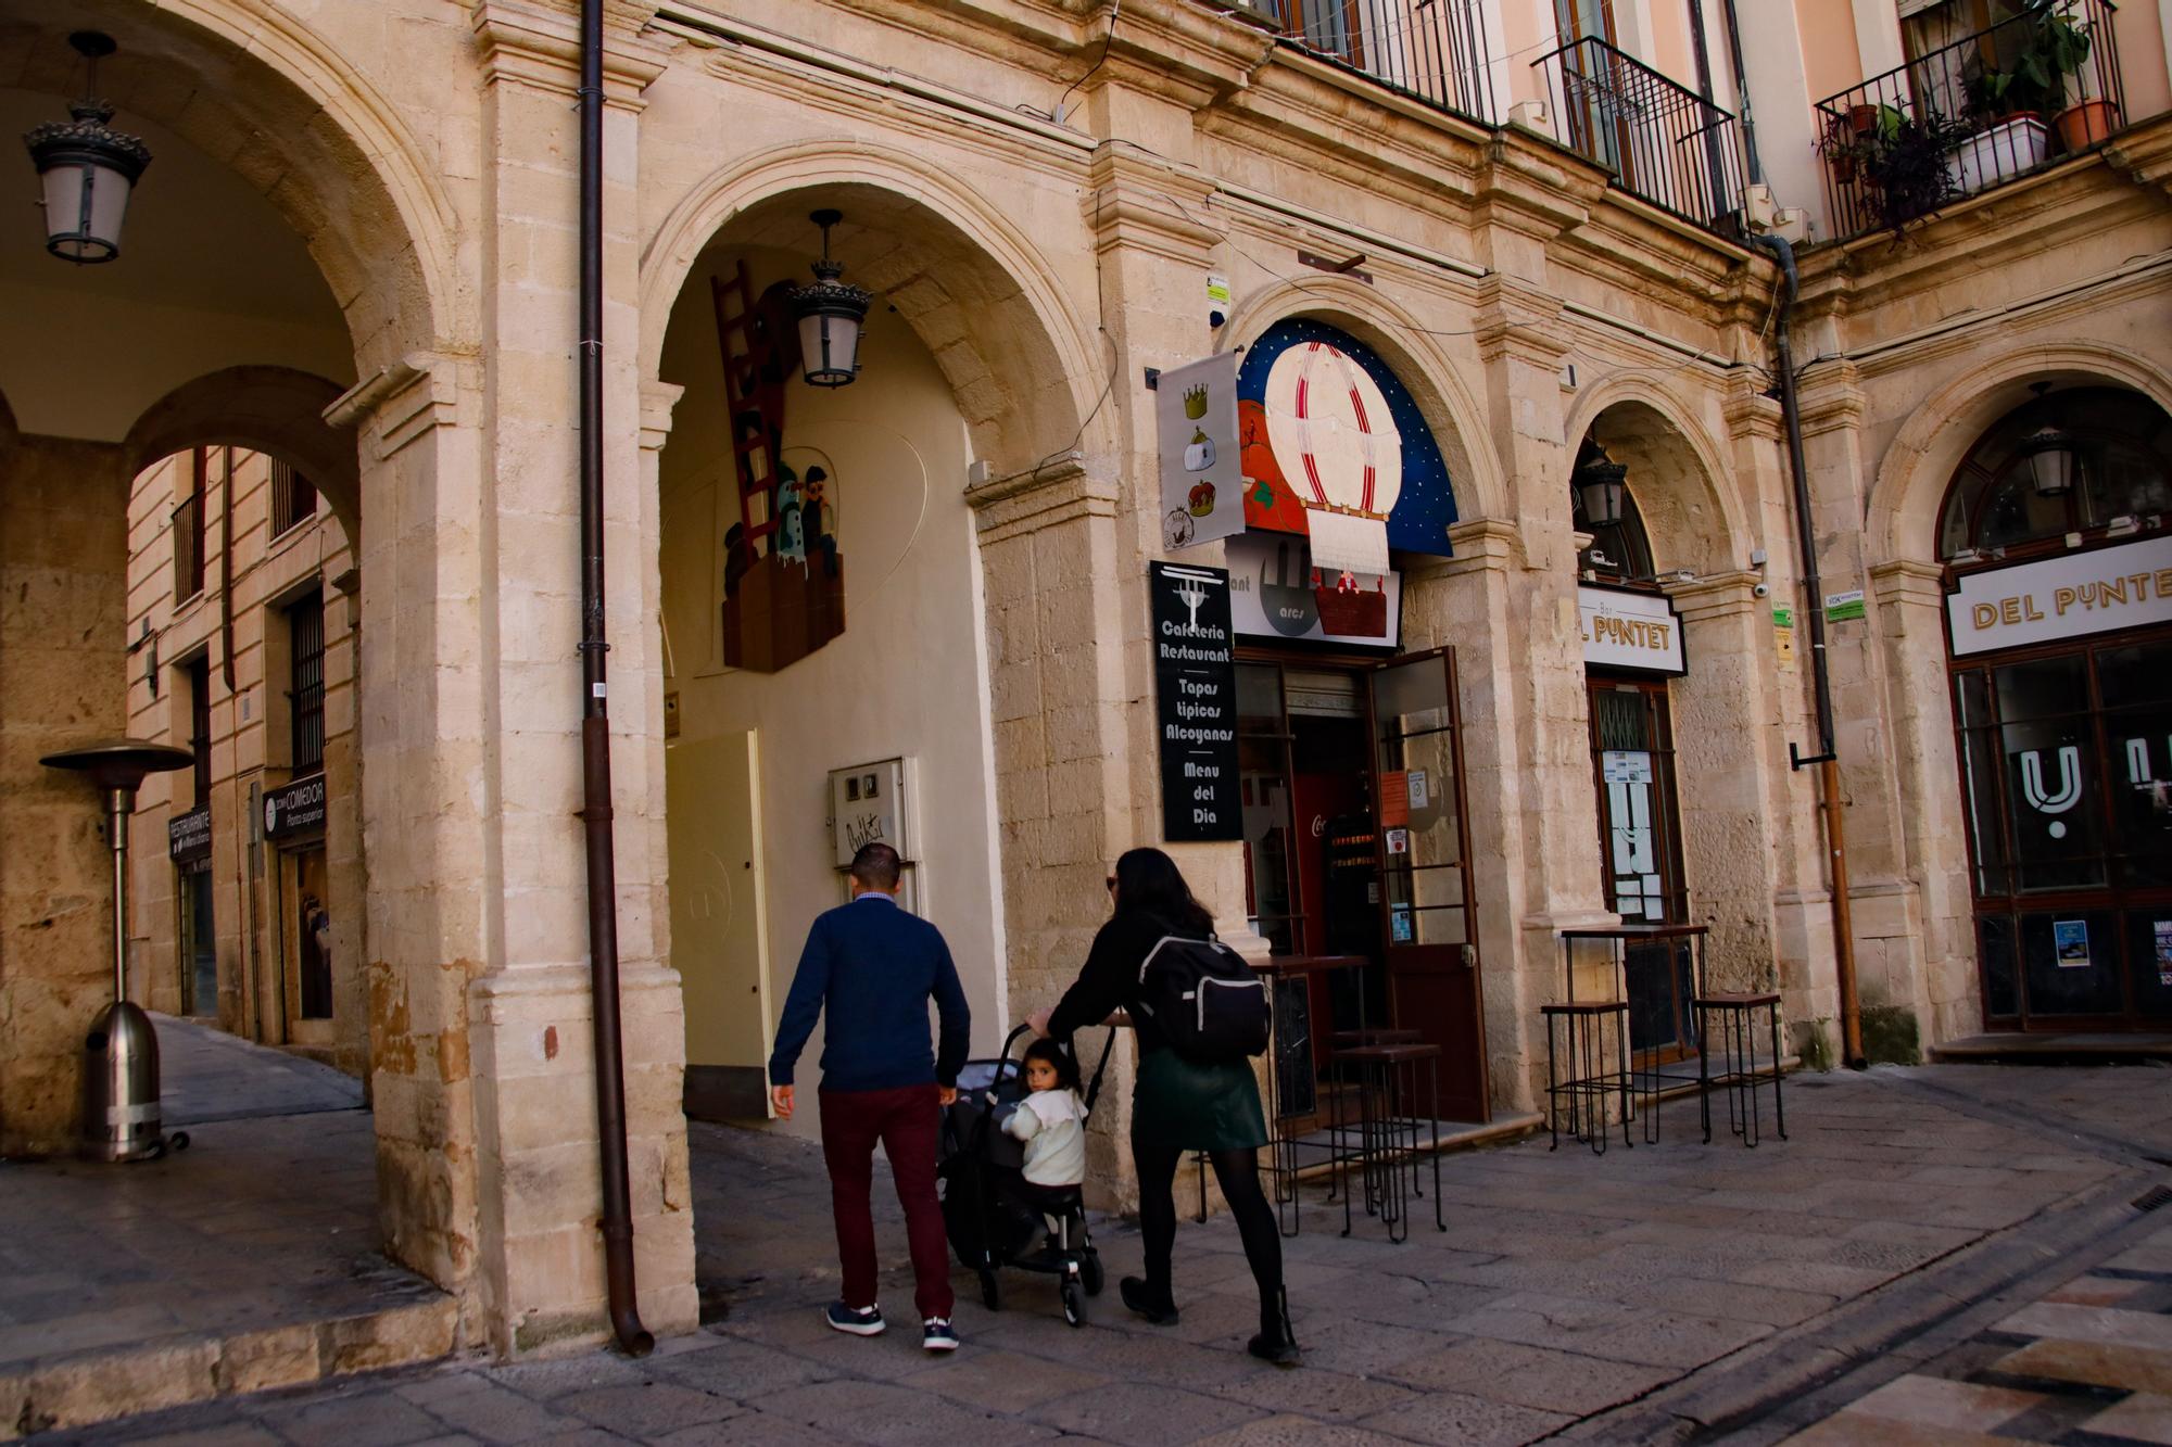
[[[1288,43],[1481,126],[1499,122],[1479,0],[1236,0]]]

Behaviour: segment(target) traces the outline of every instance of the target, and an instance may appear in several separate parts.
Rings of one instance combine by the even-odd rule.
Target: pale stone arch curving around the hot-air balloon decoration
[[[1460,521],[1505,517],[1510,487],[1483,426],[1486,408],[1464,382],[1455,363],[1425,326],[1373,287],[1347,276],[1277,282],[1247,300],[1223,332],[1229,345],[1249,345],[1266,328],[1290,317],[1316,317],[1347,330],[1388,363],[1434,428],[1434,441],[1449,463]]]

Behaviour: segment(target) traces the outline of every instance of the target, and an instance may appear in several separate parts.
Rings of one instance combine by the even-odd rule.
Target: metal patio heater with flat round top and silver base
[[[169,743],[106,739],[46,754],[39,763],[89,776],[113,843],[113,1004],[83,1039],[83,1156],[154,1160],[167,1141],[159,1115],[159,1034],[150,1015],[128,999],[128,815],[146,773],[187,769],[195,756]],[[187,1143],[185,1134],[174,1134],[174,1149]]]

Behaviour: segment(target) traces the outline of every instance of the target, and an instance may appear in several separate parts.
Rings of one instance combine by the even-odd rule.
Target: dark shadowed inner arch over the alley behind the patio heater
[[[122,443],[128,476],[163,456],[202,443],[267,452],[308,474],[339,517],[350,545],[361,545],[363,480],[354,439],[324,421],[339,387],[291,367],[228,367],[185,382],[154,402]]]

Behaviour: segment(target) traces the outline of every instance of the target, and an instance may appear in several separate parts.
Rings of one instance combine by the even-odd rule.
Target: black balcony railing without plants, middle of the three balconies
[[[1742,235],[1735,117],[1599,37],[1533,61],[1555,137],[1614,183],[1685,222]]]

